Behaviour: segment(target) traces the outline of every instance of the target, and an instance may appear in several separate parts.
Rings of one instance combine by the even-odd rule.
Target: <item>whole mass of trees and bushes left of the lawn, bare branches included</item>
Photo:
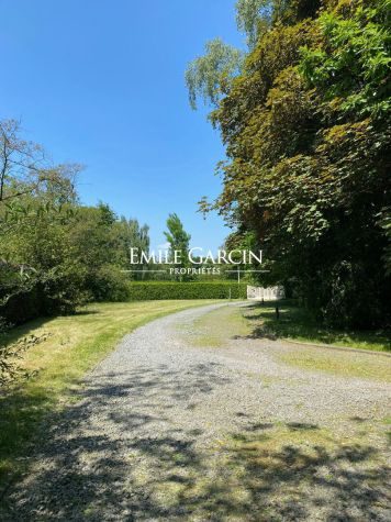
[[[18,122],[0,122],[0,315],[20,324],[89,300],[126,300],[121,269],[131,246],[148,249],[148,227],[102,202],[81,207],[79,167],[48,164],[20,134]]]

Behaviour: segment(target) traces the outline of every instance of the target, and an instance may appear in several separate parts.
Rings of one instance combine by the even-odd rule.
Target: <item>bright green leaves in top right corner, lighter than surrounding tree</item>
[[[309,87],[354,119],[386,115],[390,110],[389,0],[356,2],[324,12],[316,22],[319,45],[303,47],[299,70]]]

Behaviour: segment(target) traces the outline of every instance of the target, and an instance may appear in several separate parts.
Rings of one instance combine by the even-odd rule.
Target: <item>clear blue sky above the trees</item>
[[[224,149],[183,73],[206,40],[242,45],[234,3],[0,0],[0,118],[21,119],[54,162],[83,164],[82,202],[148,223],[154,247],[177,212],[193,245],[215,249],[230,230],[197,201],[219,193]]]

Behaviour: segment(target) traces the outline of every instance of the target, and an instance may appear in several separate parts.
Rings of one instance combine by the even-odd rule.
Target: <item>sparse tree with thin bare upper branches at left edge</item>
[[[41,145],[21,137],[19,122],[0,121],[0,306],[54,277],[23,251],[37,252],[40,231],[55,236],[58,225],[71,220],[79,170],[78,165],[52,165]],[[43,247],[41,259],[47,254]]]

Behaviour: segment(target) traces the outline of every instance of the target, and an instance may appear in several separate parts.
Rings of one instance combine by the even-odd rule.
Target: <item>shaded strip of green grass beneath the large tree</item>
[[[255,336],[284,337],[315,344],[331,344],[378,352],[391,351],[391,331],[334,330],[321,325],[303,308],[289,301],[278,303],[280,319],[276,319],[276,303],[256,303],[247,319],[254,323]]]

